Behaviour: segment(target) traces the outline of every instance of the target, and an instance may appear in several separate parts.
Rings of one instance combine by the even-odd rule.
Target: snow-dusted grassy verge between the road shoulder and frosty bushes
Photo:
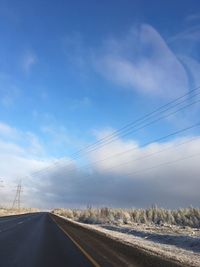
[[[116,226],[75,223],[101,232],[119,242],[138,247],[148,253],[184,263],[188,267],[200,266],[199,229],[170,225],[134,224],[131,226]]]

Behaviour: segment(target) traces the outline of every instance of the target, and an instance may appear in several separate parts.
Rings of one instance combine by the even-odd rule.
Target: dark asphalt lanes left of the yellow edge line
[[[91,267],[48,213],[0,218],[0,267]]]

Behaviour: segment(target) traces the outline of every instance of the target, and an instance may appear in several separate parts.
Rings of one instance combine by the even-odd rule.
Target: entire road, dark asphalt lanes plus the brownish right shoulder
[[[0,267],[180,267],[50,213],[0,218]]]

